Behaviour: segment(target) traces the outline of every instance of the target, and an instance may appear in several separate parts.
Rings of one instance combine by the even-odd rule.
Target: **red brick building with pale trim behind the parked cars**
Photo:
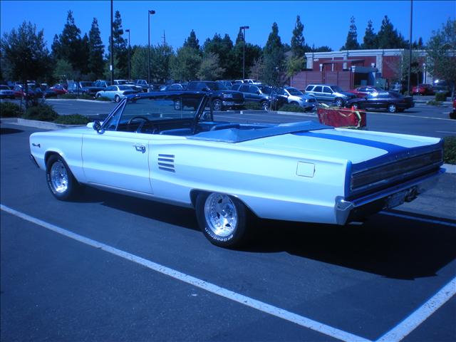
[[[410,83],[432,83],[432,76],[426,71],[426,51],[414,54],[418,54],[415,68],[419,71],[411,75]],[[394,81],[400,81],[404,55],[408,56],[408,50],[403,48],[306,53],[306,71],[290,78],[289,84],[300,90],[310,83],[334,84],[344,90],[357,86],[388,88]]]

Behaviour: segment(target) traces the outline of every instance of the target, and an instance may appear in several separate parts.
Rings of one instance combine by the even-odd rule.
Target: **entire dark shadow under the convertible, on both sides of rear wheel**
[[[90,187],[80,201],[100,202],[123,212],[199,231],[195,211],[190,208]],[[436,276],[437,271],[456,259],[456,229],[414,219],[411,213],[408,217],[375,214],[362,224],[346,226],[254,219],[252,240],[237,250],[286,252],[393,279]]]

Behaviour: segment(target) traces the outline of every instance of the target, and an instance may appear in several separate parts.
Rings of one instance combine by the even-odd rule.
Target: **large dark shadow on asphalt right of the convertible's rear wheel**
[[[410,215],[409,215],[410,216]],[[336,226],[261,220],[249,252],[299,257],[394,279],[436,276],[456,259],[456,229],[413,217],[376,214],[363,224]]]

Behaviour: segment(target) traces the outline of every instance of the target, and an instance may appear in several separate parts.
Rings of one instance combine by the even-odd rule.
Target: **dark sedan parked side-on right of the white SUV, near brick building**
[[[390,113],[403,112],[415,106],[411,96],[403,96],[395,91],[382,91],[371,93],[364,98],[348,100],[346,107],[356,109],[384,109]]]

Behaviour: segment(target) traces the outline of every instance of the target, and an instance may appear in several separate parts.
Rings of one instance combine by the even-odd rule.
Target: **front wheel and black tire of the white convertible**
[[[51,155],[46,162],[46,182],[52,195],[61,201],[74,199],[81,190],[81,185],[60,155]]]

